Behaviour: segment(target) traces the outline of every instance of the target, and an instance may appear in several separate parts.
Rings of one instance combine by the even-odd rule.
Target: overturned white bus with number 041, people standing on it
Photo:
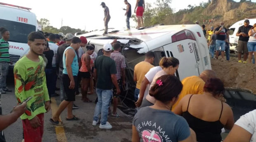
[[[95,44],[96,51],[102,50],[105,43],[115,38],[122,43],[122,54],[128,61],[129,68],[144,60],[148,51],[156,55],[154,65],[158,65],[162,56],[179,59],[180,66],[176,76],[182,80],[187,76],[198,76],[205,69],[211,69],[211,61],[206,38],[199,25],[152,26],[128,31],[112,30],[105,36],[101,31],[86,33],[88,42]]]

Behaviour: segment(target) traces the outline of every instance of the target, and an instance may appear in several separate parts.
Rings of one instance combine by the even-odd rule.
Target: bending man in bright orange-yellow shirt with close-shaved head
[[[216,73],[213,70],[204,70],[199,76],[190,76],[184,78],[181,83],[183,84],[183,89],[180,92],[178,101],[173,105],[172,111],[178,105],[180,100],[188,94],[203,94],[204,84],[210,78],[216,78]]]

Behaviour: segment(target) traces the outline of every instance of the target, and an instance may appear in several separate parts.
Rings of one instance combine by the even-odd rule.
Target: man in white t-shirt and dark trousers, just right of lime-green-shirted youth
[[[54,55],[52,58],[52,85],[50,85],[51,88],[51,92],[49,92],[51,94],[52,97],[56,96],[55,95],[55,88],[56,88],[56,82],[57,82],[57,68],[56,68],[56,54],[57,54],[57,50],[58,50],[58,45],[56,44],[56,35],[55,34],[50,34],[49,36],[49,47],[50,50],[53,51]]]

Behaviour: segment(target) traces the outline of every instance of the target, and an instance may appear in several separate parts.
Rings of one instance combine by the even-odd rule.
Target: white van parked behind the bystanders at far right
[[[244,19],[246,20],[246,19]],[[230,47],[230,50],[234,50],[237,51],[237,44],[238,44],[238,39],[239,36],[236,36],[238,28],[242,25],[244,25],[244,20],[241,21],[237,21],[235,24],[233,24],[232,26],[230,26],[230,35],[229,35],[229,40],[230,43],[232,43],[233,46]],[[248,19],[250,21],[250,25],[254,25],[256,23],[256,19]]]

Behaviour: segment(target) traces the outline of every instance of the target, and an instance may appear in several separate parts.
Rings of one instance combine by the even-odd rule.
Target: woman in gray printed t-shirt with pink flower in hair
[[[156,99],[155,104],[142,107],[134,116],[133,142],[196,142],[195,133],[187,121],[171,112],[182,88],[175,76],[157,78],[149,90],[149,95]]]

